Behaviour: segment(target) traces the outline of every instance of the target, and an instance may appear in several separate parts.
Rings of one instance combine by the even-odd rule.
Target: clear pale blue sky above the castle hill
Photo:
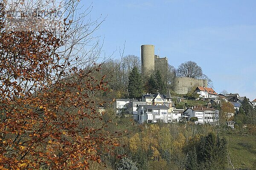
[[[85,6],[91,1],[83,0]],[[256,0],[94,0],[91,17],[107,17],[96,35],[106,55],[140,45],[160,48],[175,68],[195,61],[216,92],[256,98]],[[113,57],[119,58],[119,52]]]

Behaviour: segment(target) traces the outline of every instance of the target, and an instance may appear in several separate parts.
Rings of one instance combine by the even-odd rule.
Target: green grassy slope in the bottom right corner
[[[228,141],[227,151],[235,169],[254,170],[256,165],[256,136],[244,133],[224,134]],[[233,169],[231,164],[228,168]]]

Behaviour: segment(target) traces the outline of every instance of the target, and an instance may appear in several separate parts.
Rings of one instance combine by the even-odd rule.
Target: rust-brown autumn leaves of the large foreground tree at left
[[[72,45],[61,51],[72,20],[58,36],[6,31],[3,11],[1,4],[0,169],[88,169],[100,161],[99,148],[118,145],[102,131],[97,95],[107,88],[93,77],[99,66],[73,65]]]

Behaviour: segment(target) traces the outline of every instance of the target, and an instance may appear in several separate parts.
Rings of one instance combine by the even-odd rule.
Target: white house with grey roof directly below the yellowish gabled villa
[[[138,123],[155,123],[159,121],[168,123],[168,109],[168,107],[163,105],[140,105],[137,108]]]

